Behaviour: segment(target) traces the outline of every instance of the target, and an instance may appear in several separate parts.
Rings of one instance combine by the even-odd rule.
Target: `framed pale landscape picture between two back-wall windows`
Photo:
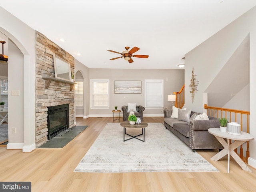
[[[141,93],[141,81],[114,81],[115,93]]]

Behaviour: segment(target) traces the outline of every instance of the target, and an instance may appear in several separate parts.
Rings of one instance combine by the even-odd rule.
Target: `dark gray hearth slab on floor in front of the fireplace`
[[[63,148],[87,127],[88,126],[74,126],[69,132],[63,134],[62,136],[55,136],[46,143],[42,144],[39,148]]]

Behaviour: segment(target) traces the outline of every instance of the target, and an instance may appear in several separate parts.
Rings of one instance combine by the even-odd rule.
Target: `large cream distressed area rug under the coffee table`
[[[127,129],[131,135],[141,132],[141,129]],[[192,152],[162,123],[148,123],[145,142],[134,138],[124,142],[123,136],[120,123],[108,123],[74,172],[219,171],[197,152]]]

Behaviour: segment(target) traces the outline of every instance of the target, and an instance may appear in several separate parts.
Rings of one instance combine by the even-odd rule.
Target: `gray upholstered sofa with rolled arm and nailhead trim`
[[[191,112],[190,117],[195,112]],[[186,143],[195,152],[196,149],[223,149],[220,142],[208,132],[209,128],[220,127],[218,118],[209,120],[190,120],[189,122],[171,118],[172,110],[164,110],[164,126]]]

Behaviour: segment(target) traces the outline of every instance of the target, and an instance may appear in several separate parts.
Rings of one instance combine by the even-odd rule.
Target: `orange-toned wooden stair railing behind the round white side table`
[[[204,108],[207,109],[207,115],[213,116],[217,118],[229,118],[229,122],[237,122],[241,125],[241,131],[249,133],[249,111],[242,111],[242,110],[235,110],[235,109],[228,109],[228,108],[219,108],[219,107],[212,107],[207,106],[207,104],[204,104]],[[229,117],[228,117],[229,116]],[[240,116],[240,118],[239,118]],[[246,128],[243,128],[246,126]],[[231,141],[230,141],[231,142]],[[237,149],[235,149],[235,152],[237,153]],[[246,157],[243,155],[243,146],[240,146],[240,154],[238,154],[240,158],[247,163],[247,160],[250,156],[249,152],[249,141],[246,142]]]

